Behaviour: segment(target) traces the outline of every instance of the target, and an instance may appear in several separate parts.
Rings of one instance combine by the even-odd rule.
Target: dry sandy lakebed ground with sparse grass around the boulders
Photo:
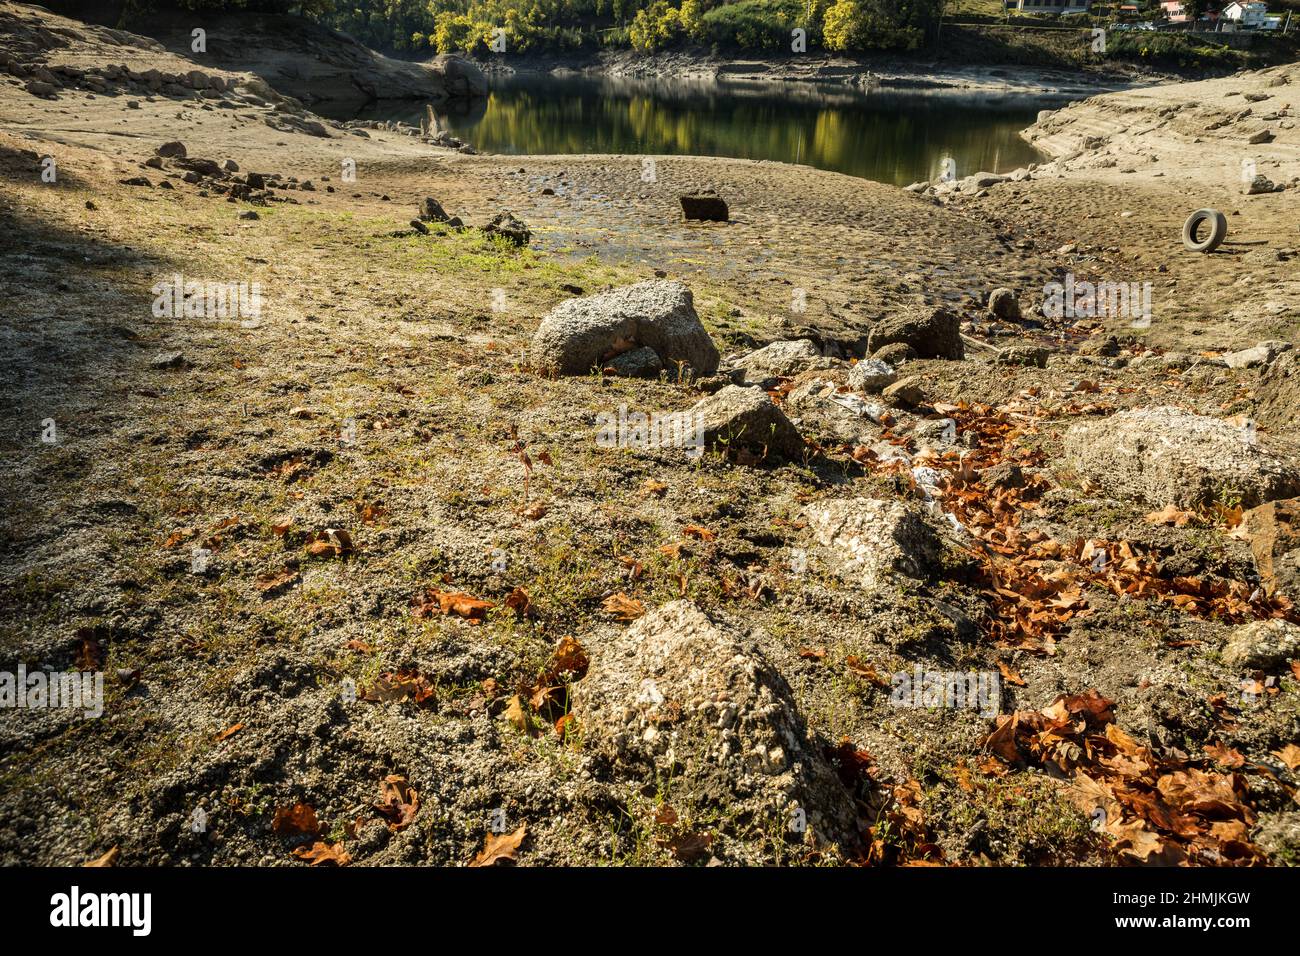
[[[103,56],[157,62],[147,51]],[[273,821],[299,801],[359,864],[465,862],[498,810],[511,832],[526,826],[523,864],[667,864],[681,853],[664,804],[711,835],[708,852],[689,857],[697,862],[857,858],[858,848],[810,848],[779,825],[774,835],[768,822],[696,804],[672,780],[629,788],[602,777],[580,737],[512,726],[503,711],[514,688],[537,678],[562,636],[598,653],[625,627],[602,604],[625,592],[650,607],[686,596],[762,635],[814,737],[872,754],[874,796],[859,796],[878,827],[872,845],[889,847],[884,858],[1058,864],[1123,853],[1089,830],[1060,774],[988,769],[987,717],[892,708],[862,662],[880,672],[1001,662],[1023,679],[1005,685],[1004,713],[1096,688],[1162,753],[1208,761],[1208,745],[1236,748],[1274,767],[1242,783],[1249,839],[1262,847],[1247,858],[1294,862],[1295,790],[1278,783],[1269,754],[1297,736],[1296,684],[1282,676],[1221,721],[1206,701],[1235,701],[1239,684],[1216,650],[1227,623],[1098,588],[1092,614],[1057,636],[1054,653],[996,646],[980,636],[978,591],[956,574],[864,593],[827,570],[801,519],[809,502],[914,492],[858,467],[853,442],[824,423],[807,421],[824,454],[783,467],[611,451],[593,441],[595,415],[623,403],[686,408],[698,393],[668,381],[550,380],[525,358],[558,302],[656,271],[690,285],[724,354],[807,334],[842,356],[859,356],[871,325],[905,307],[952,304],[979,319],[971,332],[996,338],[982,312],[994,287],[1018,290],[1031,310],[1066,271],[1153,281],[1149,329],[1002,329],[1000,343],[1052,350],[1048,368],[972,352],[907,371],[935,403],[1019,402],[1032,424],[1008,441],[1023,446],[1017,455],[1039,455],[1050,488],[1045,511],[1026,523],[1062,541],[1135,541],[1179,574],[1248,579],[1248,550],[1222,528],[1153,527],[1148,507],[1096,494],[1056,454],[1083,414],[1165,402],[1261,414],[1257,372],[1154,372],[1089,352],[1110,333],[1126,339],[1126,358],[1143,338],[1193,356],[1295,341],[1300,289],[1287,250],[1300,245],[1300,191],[1240,196],[1232,170],[1248,152],[1287,181],[1300,172],[1300,137],[1270,120],[1277,140],[1247,150],[1253,114],[1202,129],[1242,101],[1232,91],[1268,92],[1254,113],[1279,109],[1300,72],[1268,86],[1277,75],[1089,100],[1046,120],[1036,142],[1062,156],[1086,135],[1105,144],[946,204],[781,164],[658,157],[655,182],[645,182],[641,157],[465,156],[389,131],[281,133],[265,124],[268,109],[247,103],[159,96],[131,108],[126,95],[65,90],[47,100],[0,86],[0,393],[12,410],[0,446],[9,516],[0,646],[5,661],[53,670],[90,656],[108,674],[99,719],[0,714],[0,858],[75,864],[118,847],[130,864],[298,865],[299,840]],[[1170,107],[1180,108],[1160,113]],[[316,189],[282,190],[298,202],[242,220],[252,207],[179,178],[157,187],[166,174],[140,164],[173,139],[190,156]],[[40,181],[47,155],[56,183]],[[346,160],[355,183],[342,181]],[[120,183],[140,174],[155,187]],[[694,186],[723,194],[733,221],[681,222],[676,196]],[[419,235],[407,221],[424,196],[474,225],[511,209],[532,226],[530,248],[472,230]],[[1231,211],[1230,238],[1258,245],[1184,252],[1178,229],[1200,206]],[[1060,251],[1066,243],[1075,251]],[[173,273],[259,282],[260,321],[155,316],[151,287]],[[794,290],[806,311],[792,310]],[[174,351],[178,367],[152,365]],[[42,441],[48,420],[53,444]],[[1294,450],[1294,434],[1264,434]],[[689,525],[715,537],[692,537]],[[347,559],[312,557],[312,540],[332,528],[348,533]],[[202,572],[196,545],[211,551]],[[805,553],[810,568],[792,574],[790,555]],[[417,617],[426,588],[498,605],[523,588],[533,613],[502,609],[482,624]],[[365,688],[402,669],[436,685],[433,708],[341,702],[343,682]],[[420,792],[410,825],[389,827],[370,809],[391,774]]]

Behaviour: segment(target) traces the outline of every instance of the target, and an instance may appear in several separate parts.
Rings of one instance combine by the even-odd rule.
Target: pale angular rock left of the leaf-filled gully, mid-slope
[[[924,580],[944,545],[920,511],[901,501],[837,498],[805,509],[809,529],[835,571],[875,591],[901,579]]]

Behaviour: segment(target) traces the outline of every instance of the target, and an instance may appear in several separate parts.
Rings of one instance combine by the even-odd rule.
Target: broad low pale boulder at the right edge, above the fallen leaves
[[[1296,463],[1252,431],[1170,406],[1082,421],[1066,432],[1063,450],[1075,471],[1109,494],[1153,507],[1253,507],[1300,494]]]

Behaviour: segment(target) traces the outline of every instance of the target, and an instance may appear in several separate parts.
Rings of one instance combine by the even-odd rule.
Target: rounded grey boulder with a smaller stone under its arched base
[[[679,363],[697,376],[718,371],[718,349],[690,290],[670,280],[562,302],[533,336],[533,363],[556,375],[586,375],[638,346],[653,349],[672,372]]]

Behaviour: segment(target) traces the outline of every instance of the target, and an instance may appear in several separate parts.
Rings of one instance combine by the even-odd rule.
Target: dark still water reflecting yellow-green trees
[[[810,83],[516,75],[439,125],[495,153],[649,153],[800,163],[905,186],[1008,172],[1040,159],[1019,130],[1067,98],[859,91]],[[350,118],[416,125],[421,104],[385,103]]]

